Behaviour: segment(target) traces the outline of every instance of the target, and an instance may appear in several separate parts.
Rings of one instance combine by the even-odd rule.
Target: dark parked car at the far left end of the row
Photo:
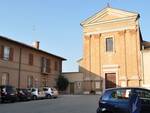
[[[17,91],[13,86],[2,85],[0,86],[1,102],[15,102],[17,101]]]

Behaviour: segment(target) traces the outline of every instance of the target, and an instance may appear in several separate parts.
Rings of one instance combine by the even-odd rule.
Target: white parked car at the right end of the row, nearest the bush
[[[57,98],[58,91],[55,88],[44,87],[43,88],[47,98]]]

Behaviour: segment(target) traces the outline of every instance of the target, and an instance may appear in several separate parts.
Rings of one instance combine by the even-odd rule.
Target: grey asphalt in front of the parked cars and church
[[[63,95],[57,99],[0,104],[0,113],[96,113],[98,95]]]

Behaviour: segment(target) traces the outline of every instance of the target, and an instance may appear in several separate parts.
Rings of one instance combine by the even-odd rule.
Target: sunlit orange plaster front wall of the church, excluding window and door
[[[105,22],[105,19],[108,21],[117,13],[111,15],[108,11],[106,18],[104,16],[102,20],[98,15],[101,14],[96,14],[97,23],[94,23],[94,19],[89,19],[89,24],[87,22],[87,25],[83,25],[83,59],[79,62],[79,70],[84,73],[84,80],[100,80],[105,89],[105,74],[116,73],[117,87],[140,86],[143,78],[137,17],[134,15],[130,19],[120,18],[118,21]],[[113,52],[106,52],[108,37],[113,37]],[[92,87],[92,83],[86,86],[88,89]]]

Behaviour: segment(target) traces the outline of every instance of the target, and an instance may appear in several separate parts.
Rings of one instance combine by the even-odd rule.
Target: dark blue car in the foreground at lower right
[[[150,113],[150,90],[144,88],[113,88],[107,89],[99,99],[97,113],[130,113],[130,97],[137,94],[141,109],[140,113]],[[135,106],[138,108],[138,106]]]

